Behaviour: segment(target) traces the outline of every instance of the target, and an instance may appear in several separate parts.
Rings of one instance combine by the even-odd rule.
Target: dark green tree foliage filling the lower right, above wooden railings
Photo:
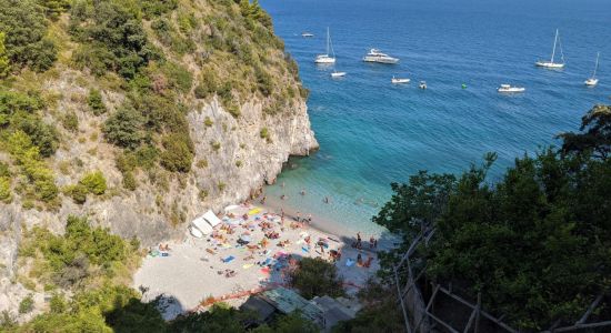
[[[569,154],[524,155],[494,185],[485,180],[491,159],[458,178],[421,172],[393,185],[373,221],[402,232],[405,244],[421,223],[434,226],[417,251],[427,278],[481,292],[484,307],[511,324],[575,322],[611,287],[611,161],[600,158],[608,144],[600,110],[584,118],[597,134],[564,137]],[[580,137],[588,144],[575,144]]]

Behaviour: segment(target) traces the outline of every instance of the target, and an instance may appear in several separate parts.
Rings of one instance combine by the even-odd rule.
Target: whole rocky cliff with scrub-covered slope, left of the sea
[[[10,2],[0,0],[0,16],[14,16]],[[19,54],[9,52],[11,73],[0,91],[7,104],[0,107],[0,135],[7,142],[0,144],[0,312],[14,311],[32,292],[19,282],[23,230],[43,225],[61,233],[69,215],[87,215],[90,222],[124,238],[136,236],[143,245],[181,238],[198,214],[208,209],[220,212],[247,199],[276,180],[289,155],[318,148],[297,67],[257,3],[150,2],[159,7],[142,4],[127,11],[120,1],[74,1],[46,11],[47,34],[57,49],[49,68],[20,64]],[[44,10],[33,1],[22,3],[31,4],[34,13]],[[29,10],[23,8],[21,14]],[[121,20],[129,29],[117,23]],[[144,42],[137,56],[123,57],[123,49],[133,51],[134,24],[141,27],[136,30]],[[100,27],[132,33],[120,39],[128,46],[111,44],[103,33],[96,41]],[[177,51],[181,46],[184,49]],[[147,48],[158,56],[140,56]],[[116,54],[116,64],[100,60],[103,51]],[[141,57],[139,68],[136,74],[126,74],[122,65],[134,57]],[[0,67],[1,60],[2,48]],[[14,102],[30,97],[40,101],[36,108]],[[29,121],[38,128],[50,129],[43,133],[56,138],[49,141],[48,155],[38,158],[46,145],[37,143],[40,131],[30,134],[18,122],[20,108],[28,109]],[[121,119],[117,114],[124,109],[136,110],[140,122],[121,123],[120,134],[138,130],[136,145],[113,140],[109,130],[116,124],[112,118]],[[6,123],[2,112],[9,119]],[[30,153],[14,148],[13,139],[21,133],[37,150],[32,161],[26,160]],[[184,144],[172,145],[169,138],[182,138]],[[173,151],[174,147],[184,149]],[[138,160],[142,151],[152,152],[152,158],[149,153],[146,164],[134,162],[128,170],[123,161]],[[186,162],[180,168],[169,165],[164,157],[174,153],[180,159],[182,151]],[[30,164],[42,171],[31,172]],[[104,191],[78,192],[92,171],[103,175]],[[47,175],[39,180],[40,174]],[[51,180],[56,189],[50,199],[40,195],[49,188],[41,185],[43,180]],[[4,196],[2,181],[9,190]]]

